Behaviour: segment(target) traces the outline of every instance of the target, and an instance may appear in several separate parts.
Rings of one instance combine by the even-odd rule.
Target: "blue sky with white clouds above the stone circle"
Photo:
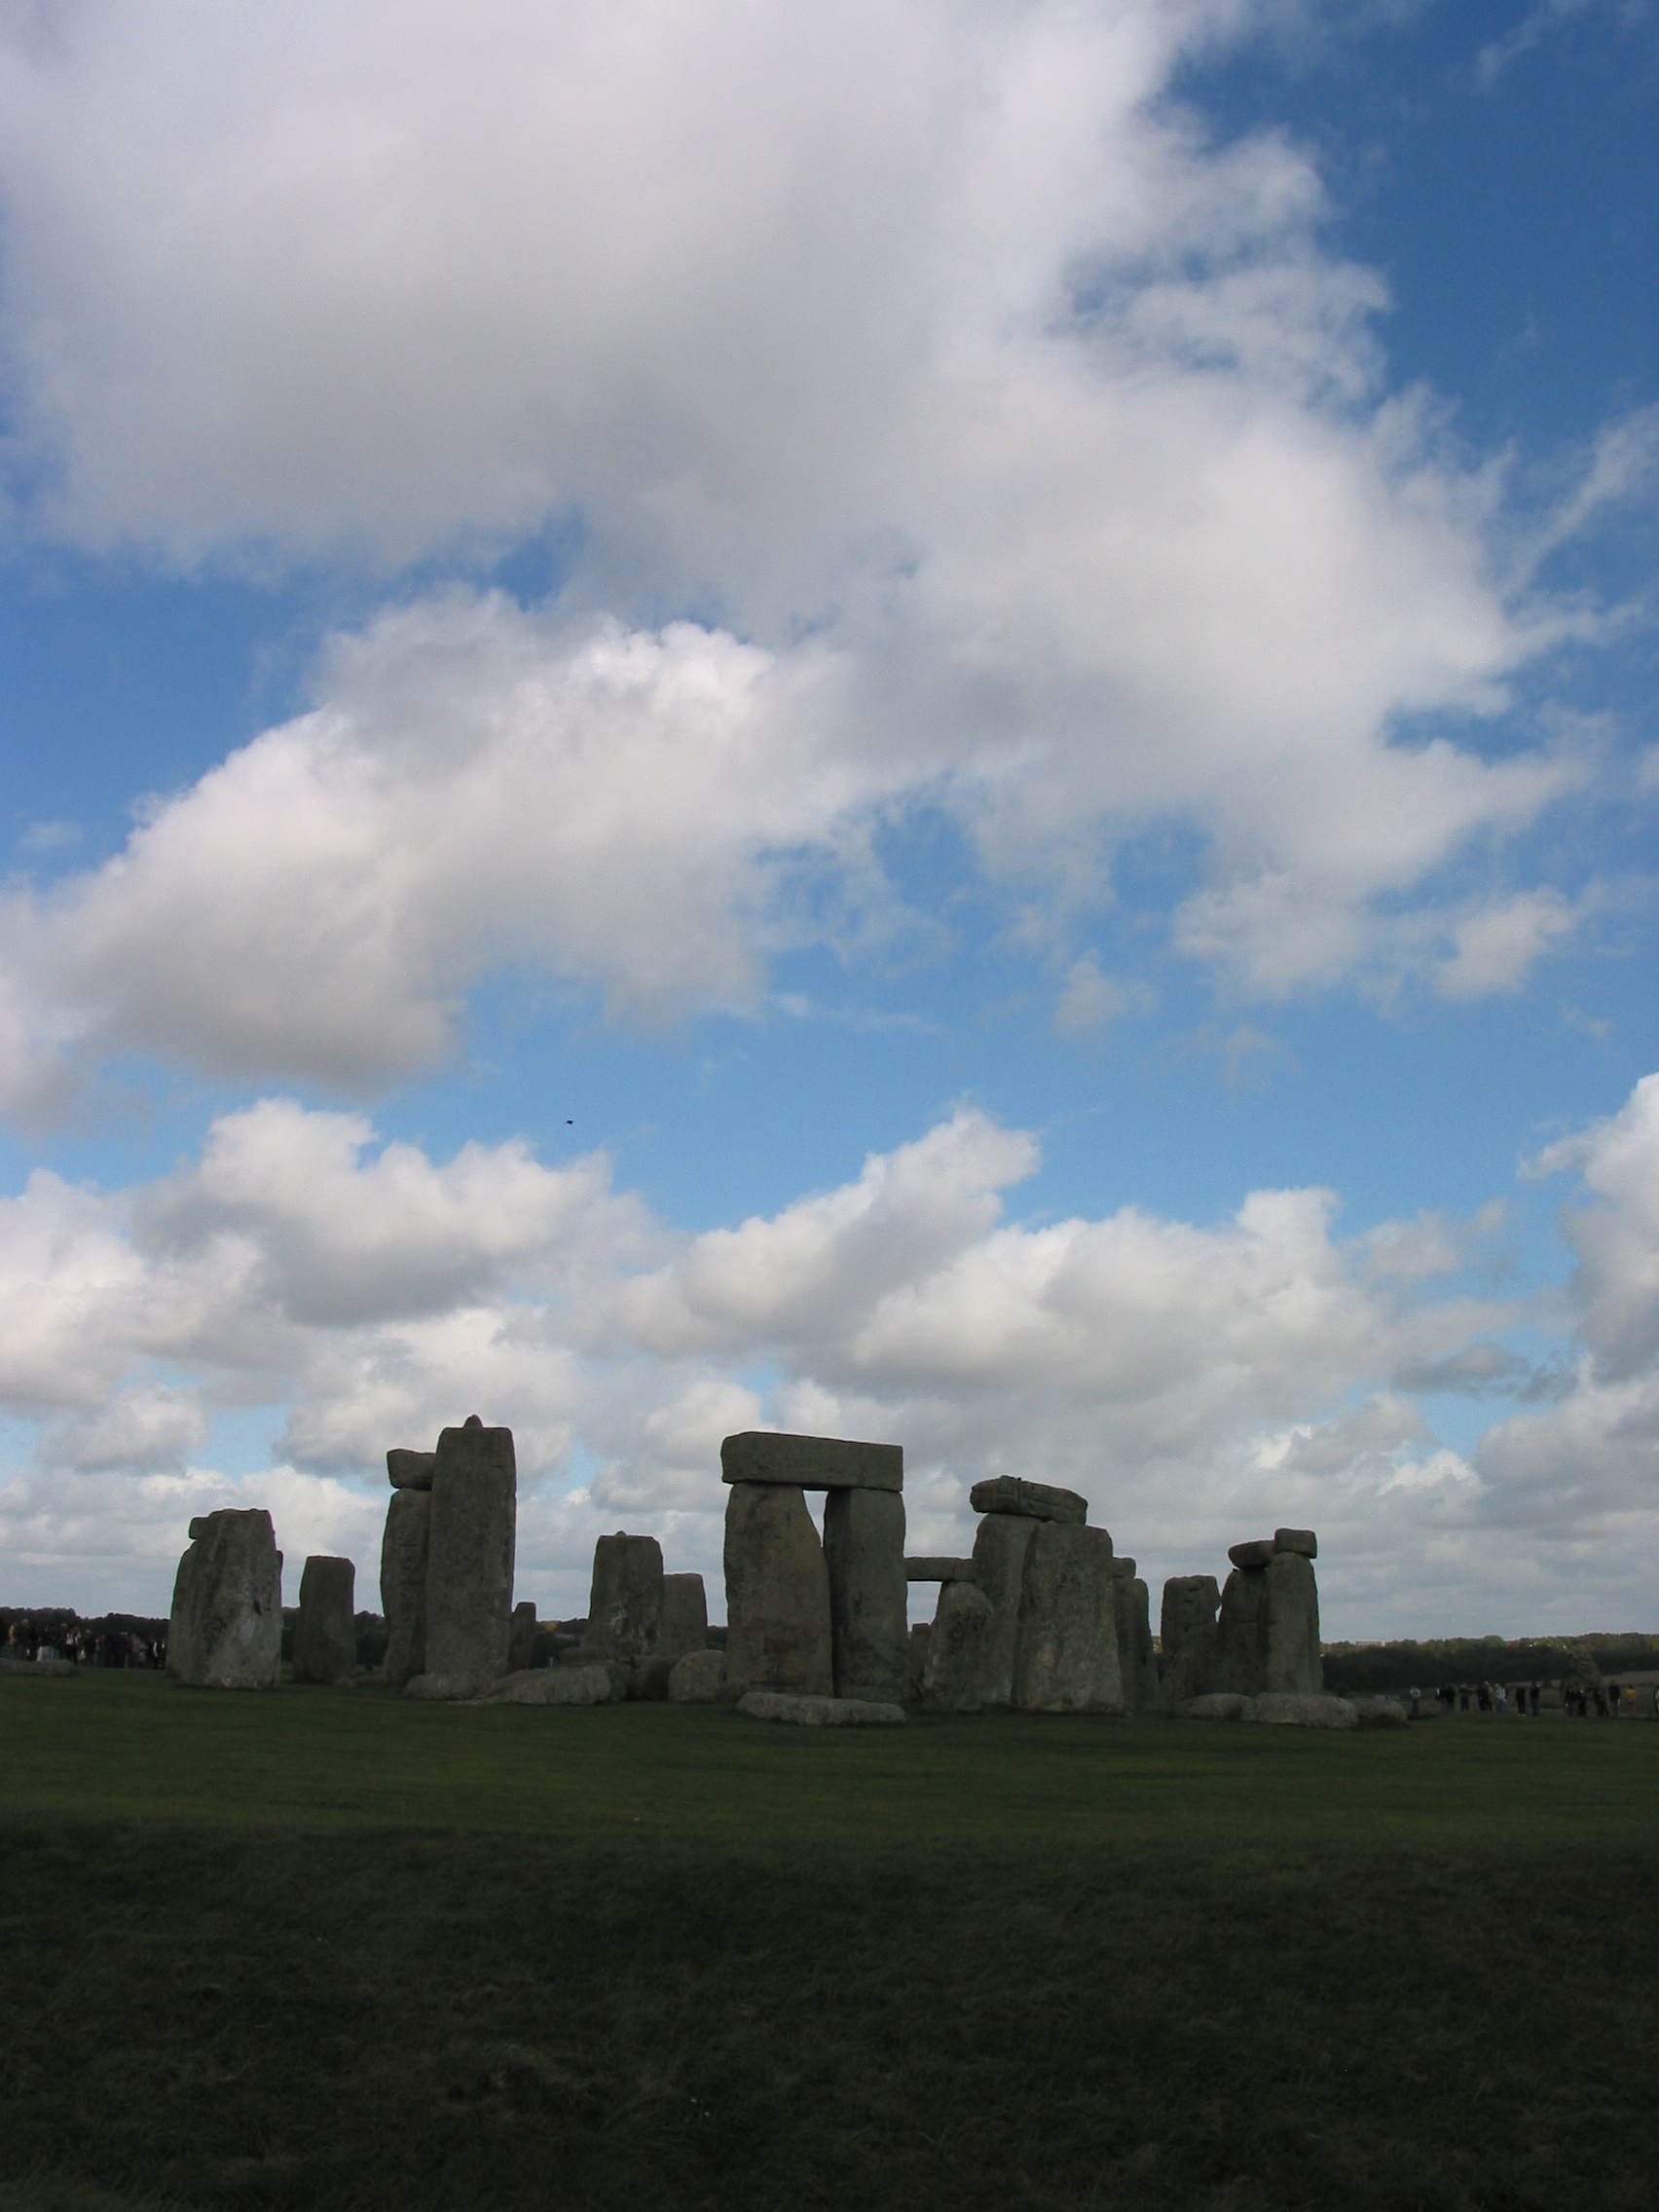
[[[1659,1628],[1659,7],[0,4],[0,1601],[509,1422]],[[916,1617],[931,1610],[916,1588]]]

